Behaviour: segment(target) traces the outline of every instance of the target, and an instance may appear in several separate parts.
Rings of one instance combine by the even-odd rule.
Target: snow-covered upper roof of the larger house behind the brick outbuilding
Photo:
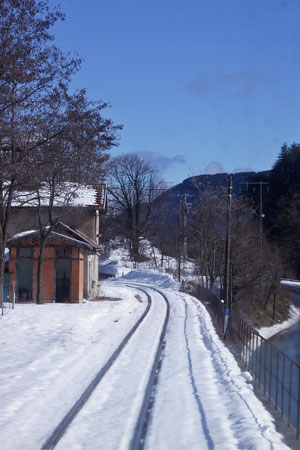
[[[42,206],[49,204],[50,191],[45,183],[39,191]],[[17,191],[14,195],[12,206],[37,207],[38,195],[36,191]],[[54,199],[55,207],[88,207],[95,209],[106,209],[107,188],[106,184],[79,185],[76,183],[62,183],[57,186]]]

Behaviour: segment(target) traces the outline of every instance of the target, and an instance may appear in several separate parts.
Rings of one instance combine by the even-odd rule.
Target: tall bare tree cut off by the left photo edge
[[[0,284],[15,192],[28,182],[32,150],[53,137],[51,127],[39,133],[41,113],[80,64],[51,45],[49,30],[63,18],[47,1],[0,2]]]

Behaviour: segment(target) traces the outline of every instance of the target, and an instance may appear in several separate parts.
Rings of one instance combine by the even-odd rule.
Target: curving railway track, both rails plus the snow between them
[[[168,325],[169,320],[169,303],[167,298],[163,294],[159,294],[160,296],[160,302],[153,302],[153,295],[149,293],[149,289],[143,289],[142,287],[138,285],[133,285],[130,283],[130,287],[137,289],[138,291],[142,292],[147,297],[147,307],[143,314],[140,316],[140,318],[137,320],[135,325],[131,328],[129,333],[125,336],[123,341],[120,343],[120,345],[116,348],[116,350],[113,352],[109,360],[106,362],[106,364],[99,370],[97,375],[94,377],[94,379],[90,382],[90,384],[87,386],[83,394],[80,396],[80,398],[77,400],[77,402],[72,406],[72,408],[69,410],[69,412],[64,416],[64,418],[60,421],[60,423],[56,426],[55,430],[51,434],[51,436],[46,440],[46,442],[42,446],[42,450],[50,450],[54,447],[57,448],[70,448],[68,444],[68,435],[72,434],[74,432],[73,428],[80,430],[80,417],[81,415],[88,415],[89,414],[89,405],[91,402],[94,401],[94,403],[98,402],[99,407],[97,406],[97,411],[99,415],[97,414],[96,421],[99,424],[100,422],[104,424],[103,431],[107,433],[107,427],[105,426],[105,420],[103,420],[103,414],[106,415],[105,411],[110,411],[112,413],[114,411],[114,408],[110,406],[107,407],[106,402],[110,401],[108,390],[106,389],[106,385],[108,385],[108,388],[111,389],[109,386],[109,377],[112,376],[112,378],[116,378],[116,372],[119,372],[119,376],[121,374],[120,379],[122,379],[122,370],[124,369],[124,379],[126,379],[126,371],[128,374],[128,370],[130,373],[136,372],[136,364],[141,363],[143,364],[143,358],[145,358],[145,367],[143,367],[143,371],[140,374],[140,379],[142,380],[139,382],[139,389],[138,389],[138,395],[136,399],[133,399],[132,396],[128,396],[128,404],[126,405],[126,399],[125,396],[122,395],[122,392],[120,393],[120,399],[125,400],[125,414],[123,412],[123,416],[126,418],[126,411],[130,410],[131,404],[130,402],[134,402],[134,412],[131,414],[129,420],[127,420],[128,425],[125,424],[125,428],[131,428],[132,430],[128,430],[128,432],[125,431],[125,436],[127,436],[128,443],[126,445],[126,448],[130,448],[131,450],[137,450],[143,448],[143,442],[144,437],[147,430],[148,425],[148,419],[149,419],[149,410],[150,405],[152,401],[152,391],[153,386],[156,383],[157,379],[157,371],[160,363],[160,357],[164,346],[164,339],[166,334],[166,329]],[[151,289],[152,293],[153,290]],[[158,291],[157,291],[158,293]],[[156,294],[157,294],[156,293]],[[164,301],[164,315],[161,315],[161,300]],[[157,304],[160,304],[159,308],[157,308]],[[159,309],[159,311],[158,311]],[[145,355],[145,352],[142,351],[141,355],[138,355],[136,352],[137,349],[137,340],[139,339],[138,335],[141,339],[143,338],[143,333],[145,332],[145,327],[147,327],[147,321],[151,320],[153,323],[155,323],[155,320],[153,321],[153,317],[151,319],[150,316],[156,315],[156,325],[152,328],[152,334],[148,333],[149,336],[146,340],[148,340],[148,346],[149,350],[151,349],[152,354],[151,355]],[[159,320],[157,320],[159,319]],[[160,322],[160,323],[158,323]],[[140,325],[143,323],[143,326]],[[150,322],[148,323],[150,325]],[[143,328],[143,330],[142,330]],[[150,327],[151,328],[151,327]],[[151,336],[150,336],[151,334]],[[134,343],[134,341],[136,341]],[[145,339],[144,339],[145,341]],[[141,345],[143,345],[143,340],[141,341]],[[156,346],[155,346],[156,344]],[[142,353],[144,353],[142,355]],[[132,357],[136,358],[137,360],[134,361]],[[139,359],[140,358],[140,359]],[[150,362],[150,365],[147,363]],[[118,367],[118,368],[117,368]],[[119,370],[121,368],[121,370]],[[110,372],[107,374],[107,372]],[[105,377],[105,375],[107,376]],[[123,380],[125,381],[125,380]],[[101,382],[101,383],[100,383]],[[114,383],[114,380],[113,380]],[[125,382],[126,384],[126,382]],[[120,386],[120,381],[115,383],[116,386]],[[115,387],[116,387],[115,386]],[[124,388],[124,386],[122,386]],[[117,390],[117,389],[116,389]],[[115,393],[116,390],[113,390]],[[122,389],[121,389],[122,391]],[[136,391],[136,389],[135,389]],[[111,390],[112,393],[112,390]],[[93,394],[93,395],[92,395]],[[96,395],[97,394],[97,395]],[[135,392],[136,394],[136,392]],[[96,397],[96,399],[94,399]],[[115,397],[115,395],[111,395],[112,398]],[[99,402],[99,398],[101,401]],[[102,402],[104,398],[104,401]],[[140,399],[143,398],[142,402]],[[88,402],[89,400],[89,402]],[[113,402],[114,400],[112,400]],[[101,404],[102,403],[102,404]],[[118,401],[117,403],[118,404]],[[86,406],[85,406],[86,405]],[[124,405],[122,405],[124,407]],[[94,407],[92,407],[92,410],[94,411]],[[86,412],[87,411],[87,412]],[[102,411],[102,412],[101,412]],[[108,419],[109,421],[110,419]],[[73,422],[76,422],[76,427],[73,427]],[[79,423],[79,426],[78,426]],[[79,432],[80,433],[80,432]],[[83,433],[84,435],[85,433]],[[98,430],[99,434],[99,430]],[[101,434],[101,433],[100,433]],[[118,433],[117,433],[118,434]],[[123,432],[124,434],[124,432]],[[120,435],[122,436],[122,434]],[[128,437],[130,436],[130,438]],[[124,436],[123,436],[124,437]],[[92,448],[87,444],[86,446],[86,438],[84,437],[84,445],[81,447],[79,444],[78,448]],[[118,439],[118,438],[117,438]],[[119,439],[121,439],[119,437]],[[71,438],[72,442],[74,442],[73,438]],[[115,447],[116,444],[112,443],[112,449],[117,448]],[[122,445],[119,442],[118,448],[121,448]],[[99,448],[99,447],[97,447]],[[106,446],[106,448],[108,448]]]

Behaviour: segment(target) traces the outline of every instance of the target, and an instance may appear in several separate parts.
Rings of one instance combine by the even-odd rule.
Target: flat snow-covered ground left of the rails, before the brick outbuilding
[[[0,318],[0,448],[38,449],[144,310],[111,286],[113,298],[83,304],[16,304]]]

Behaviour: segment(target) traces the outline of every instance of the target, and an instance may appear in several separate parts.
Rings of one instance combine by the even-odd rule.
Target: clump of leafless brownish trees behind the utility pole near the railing
[[[266,316],[274,319],[277,304],[284,315],[288,308],[280,287],[284,267],[279,252],[266,237],[261,248],[259,223],[243,199],[233,199],[231,220],[230,306],[256,323]],[[226,193],[202,192],[192,216],[190,243],[202,284],[205,279],[209,289],[216,281],[223,288],[225,233]]]

